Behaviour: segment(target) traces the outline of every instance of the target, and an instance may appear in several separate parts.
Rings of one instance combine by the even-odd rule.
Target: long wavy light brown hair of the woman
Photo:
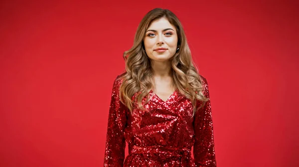
[[[176,51],[169,61],[171,62],[171,73],[173,84],[178,92],[188,98],[193,106],[193,115],[204,105],[208,98],[203,95],[202,81],[200,79],[197,67],[193,65],[193,60],[189,46],[187,44],[186,36],[183,27],[178,18],[168,9],[155,8],[150,10],[140,22],[133,47],[124,52],[124,59],[126,62],[126,70],[119,79],[123,79],[120,86],[119,97],[121,102],[132,111],[134,108],[147,111],[143,107],[143,98],[147,97],[145,103],[149,101],[149,92],[154,83],[151,59],[147,56],[144,47],[144,37],[146,30],[153,20],[165,17],[172,24],[177,33],[177,46],[179,50]],[[135,98],[133,96],[138,93]],[[196,100],[203,103],[197,107]]]

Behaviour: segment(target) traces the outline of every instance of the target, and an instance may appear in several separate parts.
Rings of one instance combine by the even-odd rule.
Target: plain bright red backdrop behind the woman
[[[102,167],[123,52],[162,7],[208,80],[218,167],[299,167],[298,4],[2,0],[0,166]]]

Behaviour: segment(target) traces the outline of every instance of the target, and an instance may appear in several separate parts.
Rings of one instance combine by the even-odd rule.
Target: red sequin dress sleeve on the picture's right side
[[[209,98],[209,88],[205,78],[203,78],[202,86],[204,96]],[[195,167],[216,167],[210,100],[195,113],[194,133],[193,156]]]

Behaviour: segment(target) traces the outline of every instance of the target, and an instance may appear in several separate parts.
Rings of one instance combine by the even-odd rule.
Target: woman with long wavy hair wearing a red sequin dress
[[[104,166],[216,167],[208,83],[178,18],[149,11],[124,59],[126,71],[113,84]]]

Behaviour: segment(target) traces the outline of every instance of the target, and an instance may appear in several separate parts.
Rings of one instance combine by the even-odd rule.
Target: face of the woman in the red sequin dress
[[[146,31],[144,44],[150,59],[167,61],[177,49],[175,27],[165,17],[152,21]]]

